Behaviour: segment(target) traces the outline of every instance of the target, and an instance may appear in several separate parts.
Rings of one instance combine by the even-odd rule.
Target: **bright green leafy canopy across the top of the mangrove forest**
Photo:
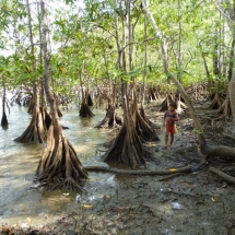
[[[119,34],[121,17],[120,9],[116,8],[114,0],[86,0],[84,7],[79,7],[74,0],[64,0],[63,4],[59,0],[52,2],[52,5],[61,4],[61,8],[58,7],[49,17],[52,47],[50,74],[56,93],[67,94],[71,86],[80,85],[80,79],[83,85],[90,86],[107,84],[110,81],[130,82],[133,78],[141,82],[144,70],[148,83],[167,85],[167,78],[162,68],[160,42],[156,40],[150,22],[146,25],[148,66],[146,68],[143,66],[144,15],[140,1],[131,3],[131,23],[136,25],[134,68],[127,72],[117,69],[115,13],[119,15]],[[219,78],[213,74],[213,58],[219,49],[224,58],[230,58],[231,34],[224,31],[226,42],[215,34],[223,25],[226,26],[226,23],[214,4],[211,1],[198,0],[150,0],[149,4],[167,42],[169,69],[183,85],[207,82],[209,78],[205,74],[203,58],[208,64],[210,79],[218,80]],[[39,15],[36,4],[32,4],[31,8],[34,11],[33,15]],[[33,16],[36,46],[35,56],[32,56],[28,49],[25,5],[17,0],[1,1],[0,9],[0,48],[12,51],[10,57],[5,57],[9,62],[3,60],[1,62],[1,81],[8,78],[9,85],[31,85],[43,77],[43,67],[39,63],[39,21],[37,16]],[[122,44],[122,38],[119,43]],[[128,44],[126,48],[127,61]],[[36,61],[35,71],[32,71],[33,61]],[[225,66],[228,62],[230,59],[225,59]],[[220,79],[226,82],[225,75]]]

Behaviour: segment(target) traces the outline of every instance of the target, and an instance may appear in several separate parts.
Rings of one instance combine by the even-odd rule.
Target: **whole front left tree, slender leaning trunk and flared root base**
[[[63,134],[57,111],[57,103],[49,86],[48,27],[43,1],[40,1],[40,7],[43,17],[44,86],[50,107],[51,125],[48,130],[47,146],[37,167],[37,180],[46,190],[66,188],[81,191],[81,186],[87,179],[87,173],[79,161],[73,146]]]

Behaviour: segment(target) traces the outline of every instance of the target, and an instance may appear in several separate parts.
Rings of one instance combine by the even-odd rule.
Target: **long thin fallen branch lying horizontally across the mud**
[[[87,172],[105,172],[114,173],[118,175],[139,175],[139,176],[160,176],[160,175],[176,175],[176,173],[189,173],[191,166],[185,166],[181,168],[169,168],[169,169],[156,169],[156,171],[128,171],[128,169],[116,169],[106,166],[86,166],[84,167]],[[174,171],[173,171],[174,169]]]

